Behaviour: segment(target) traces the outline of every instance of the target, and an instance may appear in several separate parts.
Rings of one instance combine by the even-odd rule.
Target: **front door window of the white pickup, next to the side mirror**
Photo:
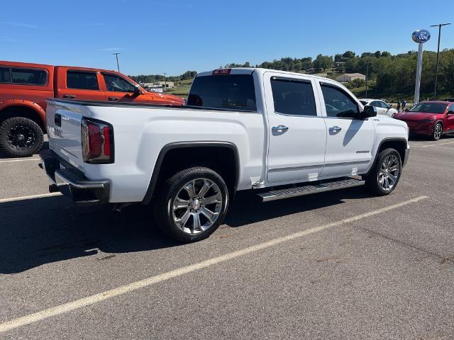
[[[321,84],[321,91],[328,117],[355,118],[358,115],[358,105],[341,89]]]

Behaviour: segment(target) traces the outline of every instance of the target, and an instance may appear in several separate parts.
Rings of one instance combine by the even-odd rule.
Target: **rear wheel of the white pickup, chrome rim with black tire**
[[[159,189],[155,216],[159,227],[177,242],[209,237],[228,208],[228,188],[216,171],[197,166],[179,171]]]

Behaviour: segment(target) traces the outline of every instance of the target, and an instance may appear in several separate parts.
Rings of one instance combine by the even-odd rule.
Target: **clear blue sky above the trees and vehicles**
[[[120,52],[121,72],[133,75],[406,52],[416,50],[414,29],[445,22],[453,25],[443,28],[441,47],[454,47],[454,0],[25,0],[5,1],[1,12],[0,60],[115,69],[112,53]],[[431,33],[426,50],[436,50]]]

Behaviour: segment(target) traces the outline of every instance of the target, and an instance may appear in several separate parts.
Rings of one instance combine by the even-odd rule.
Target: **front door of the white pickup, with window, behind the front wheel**
[[[318,81],[326,137],[325,166],[322,177],[361,174],[372,160],[375,127],[372,119],[355,119],[358,101],[334,82]]]

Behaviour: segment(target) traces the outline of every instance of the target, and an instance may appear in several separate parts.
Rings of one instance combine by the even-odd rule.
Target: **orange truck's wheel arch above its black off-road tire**
[[[40,126],[43,133],[45,132],[45,111],[37,103],[18,101],[16,99],[6,102],[6,105],[0,108],[0,123],[13,117],[31,119]]]

